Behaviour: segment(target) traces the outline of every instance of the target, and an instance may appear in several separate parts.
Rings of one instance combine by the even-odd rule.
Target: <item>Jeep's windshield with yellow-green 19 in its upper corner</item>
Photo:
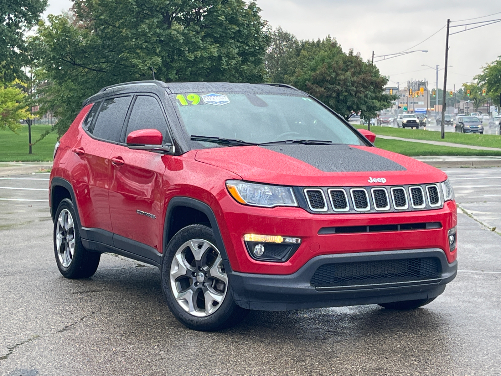
[[[365,145],[342,120],[311,98],[284,94],[189,93],[175,97],[190,136],[249,143],[325,140]],[[209,143],[209,145],[207,145]],[[199,140],[194,147],[213,146]]]

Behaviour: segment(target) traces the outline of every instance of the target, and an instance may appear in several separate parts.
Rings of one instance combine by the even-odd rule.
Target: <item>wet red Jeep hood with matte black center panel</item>
[[[390,151],[349,145],[235,146],[198,150],[195,160],[230,170],[247,181],[297,186],[419,184],[447,175]],[[373,182],[378,179],[380,182]]]

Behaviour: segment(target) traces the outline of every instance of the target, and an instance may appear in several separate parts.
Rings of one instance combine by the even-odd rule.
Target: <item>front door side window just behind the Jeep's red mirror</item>
[[[129,117],[125,140],[130,132],[139,129],[158,129],[163,135],[163,142],[171,143],[162,108],[154,97],[140,95],[136,98]]]

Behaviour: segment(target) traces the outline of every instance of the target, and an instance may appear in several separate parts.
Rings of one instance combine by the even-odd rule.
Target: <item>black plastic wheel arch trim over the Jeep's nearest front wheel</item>
[[[216,246],[221,252],[221,257],[223,260],[228,260],[228,255],[226,253],[226,248],[224,247],[224,242],[221,237],[221,232],[219,230],[219,225],[217,224],[216,217],[214,216],[214,212],[212,209],[205,203],[189,198],[189,197],[174,197],[170,199],[169,204],[167,205],[167,211],[165,213],[165,222],[163,225],[163,250],[167,247],[167,239],[172,238],[174,234],[169,234],[169,224],[172,217],[172,212],[176,207],[187,207],[191,209],[198,210],[207,216],[210,222],[210,227],[212,227],[212,231],[214,231],[214,236],[216,238]],[[229,265],[229,263],[226,263]],[[226,265],[225,265],[226,266]]]

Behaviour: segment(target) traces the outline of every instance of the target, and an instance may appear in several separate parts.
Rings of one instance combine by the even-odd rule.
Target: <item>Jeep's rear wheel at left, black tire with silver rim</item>
[[[89,252],[82,245],[73,202],[63,199],[54,218],[54,254],[59,271],[70,279],[91,277],[96,273],[101,254]]]

